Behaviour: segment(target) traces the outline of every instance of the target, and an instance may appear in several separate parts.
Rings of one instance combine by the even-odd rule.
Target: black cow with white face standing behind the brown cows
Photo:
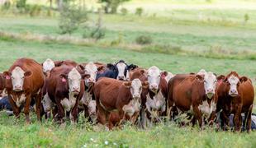
[[[115,64],[108,63],[107,64],[108,69],[105,72],[97,73],[96,81],[100,77],[110,77],[113,79],[126,81],[127,77],[129,77],[129,71],[135,69],[136,67],[138,66],[134,64],[127,65],[126,62],[123,60],[120,60]]]

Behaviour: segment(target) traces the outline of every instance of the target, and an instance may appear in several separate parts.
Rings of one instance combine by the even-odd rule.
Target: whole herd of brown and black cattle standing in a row
[[[173,75],[123,60],[105,64],[46,59],[40,64],[20,58],[0,73],[0,90],[17,118],[21,111],[25,113],[26,123],[34,105],[40,121],[53,116],[57,123],[66,119],[76,123],[79,113],[84,113],[90,122],[109,129],[127,120],[148,127],[163,119],[175,120],[181,113],[192,125],[202,127],[216,123],[219,113],[220,126],[226,130],[232,113],[235,131],[242,126],[250,131],[254,104],[252,81],[237,72]]]

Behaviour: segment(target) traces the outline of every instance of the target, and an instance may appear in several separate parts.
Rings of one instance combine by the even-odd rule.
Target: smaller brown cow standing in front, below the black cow
[[[148,82],[141,82],[139,79],[118,81],[101,78],[94,87],[97,121],[105,125],[109,121],[110,113],[115,110],[121,119],[125,116],[131,118],[140,111],[141,92],[147,87]]]

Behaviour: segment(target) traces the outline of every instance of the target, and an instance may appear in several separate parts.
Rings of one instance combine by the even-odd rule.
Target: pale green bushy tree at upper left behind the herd
[[[75,6],[64,5],[60,11],[59,29],[60,34],[71,35],[78,30],[79,25],[88,20],[87,12]]]

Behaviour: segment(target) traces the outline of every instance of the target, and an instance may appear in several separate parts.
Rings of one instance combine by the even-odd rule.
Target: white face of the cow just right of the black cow
[[[158,67],[153,66],[149,67],[147,73],[149,81],[149,90],[156,92],[157,90],[159,90],[161,72]]]

